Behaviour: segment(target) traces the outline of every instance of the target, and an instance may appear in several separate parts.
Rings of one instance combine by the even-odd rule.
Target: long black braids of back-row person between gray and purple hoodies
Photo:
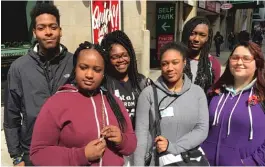
[[[189,38],[192,31],[198,24],[205,24],[208,26],[208,40],[200,50],[200,58],[198,63],[198,70],[194,83],[199,85],[206,92],[214,82],[214,73],[211,67],[211,62],[209,60],[209,52],[212,45],[213,30],[211,28],[210,22],[205,17],[193,17],[190,19],[183,28],[182,39],[181,41],[189,46]],[[192,80],[192,73],[190,67],[190,60],[187,59],[186,67],[184,68],[184,73]]]

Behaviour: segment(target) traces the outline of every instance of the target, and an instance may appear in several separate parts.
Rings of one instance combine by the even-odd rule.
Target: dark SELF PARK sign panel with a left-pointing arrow
[[[174,34],[175,4],[156,4],[156,32],[157,34]]]

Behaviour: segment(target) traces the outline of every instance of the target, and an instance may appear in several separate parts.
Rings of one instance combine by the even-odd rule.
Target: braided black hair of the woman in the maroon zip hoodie
[[[69,84],[74,84],[76,85],[76,81],[75,81],[75,67],[77,65],[77,60],[78,60],[78,56],[80,55],[80,52],[84,49],[95,49],[103,58],[104,60],[104,66],[106,66],[106,55],[107,53],[105,52],[105,50],[98,44],[92,44],[90,42],[87,42],[85,41],[84,43],[81,43],[79,45],[79,47],[76,49],[75,53],[74,53],[74,56],[73,56],[73,70],[72,70],[72,73],[67,81],[67,83]],[[106,71],[106,69],[105,69]],[[104,73],[105,73],[104,71]],[[104,75],[105,76],[105,75]],[[119,127],[121,128],[122,131],[125,130],[125,126],[126,126],[126,120],[121,112],[121,108],[120,106],[118,105],[117,101],[115,100],[114,96],[108,91],[105,89],[106,87],[106,79],[105,77],[103,78],[102,82],[101,82],[101,85],[100,85],[100,88],[103,93],[106,95],[107,97],[107,100],[110,104],[110,107],[112,109],[112,111],[114,112],[114,115],[116,116],[117,120],[118,120],[118,123],[119,123]]]

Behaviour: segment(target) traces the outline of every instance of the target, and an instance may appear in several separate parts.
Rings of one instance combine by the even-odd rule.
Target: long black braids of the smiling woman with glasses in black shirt
[[[101,41],[101,46],[106,49],[107,51],[107,74],[113,76],[115,73],[113,71],[113,65],[110,63],[110,51],[113,44],[120,44],[122,45],[128,52],[130,56],[130,64],[128,67],[128,76],[129,80],[132,84],[132,88],[138,94],[141,92],[141,88],[139,83],[143,79],[143,77],[138,73],[137,70],[137,62],[136,62],[136,55],[133,49],[133,45],[129,37],[120,30],[113,31],[105,35],[103,40]]]

